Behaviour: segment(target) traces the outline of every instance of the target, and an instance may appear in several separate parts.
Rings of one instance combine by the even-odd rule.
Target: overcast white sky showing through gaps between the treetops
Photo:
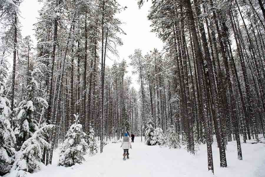
[[[120,62],[123,58],[130,63],[128,56],[133,54],[134,49],[142,49],[143,55],[145,55],[150,50],[157,48],[161,50],[163,48],[163,43],[155,33],[151,33],[150,21],[147,20],[148,10],[151,6],[151,1],[144,4],[141,9],[138,9],[137,0],[117,0],[121,6],[127,6],[125,11],[122,11],[118,18],[124,22],[122,24],[122,29],[127,35],[122,35],[123,45],[118,47],[119,58],[112,57],[106,59],[107,65],[111,66],[114,60]],[[23,36],[31,35],[34,43],[36,39],[33,36],[33,24],[37,22],[37,17],[39,16],[38,10],[41,9],[41,4],[37,0],[24,0],[20,5],[20,11],[23,19],[21,19],[21,32]],[[128,67],[127,75],[132,76],[132,86],[135,89],[139,89],[137,84],[138,77],[132,75],[132,67]]]

